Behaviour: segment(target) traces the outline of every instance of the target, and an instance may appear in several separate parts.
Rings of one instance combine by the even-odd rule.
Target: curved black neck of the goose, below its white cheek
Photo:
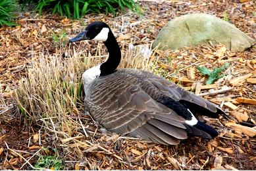
[[[101,75],[99,76],[105,76],[114,73],[121,60],[121,50],[111,30],[109,30],[108,39],[104,42],[104,44],[109,51],[109,58],[106,62],[101,64]]]

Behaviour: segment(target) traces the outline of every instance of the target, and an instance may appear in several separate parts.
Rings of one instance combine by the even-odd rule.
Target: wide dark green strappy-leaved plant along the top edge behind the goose
[[[23,6],[36,2],[35,10],[41,14],[42,10],[51,9],[52,14],[60,14],[68,18],[81,18],[88,12],[106,12],[116,14],[117,10],[128,9],[138,11],[134,0],[25,0]]]

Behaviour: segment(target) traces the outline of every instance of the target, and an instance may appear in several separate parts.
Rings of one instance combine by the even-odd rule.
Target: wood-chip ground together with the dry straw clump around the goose
[[[69,170],[255,170],[256,107],[246,104],[256,99],[255,46],[233,53],[209,43],[179,50],[151,50],[147,58],[159,29],[174,16],[190,12],[207,12],[220,18],[229,14],[230,22],[255,39],[253,1],[142,2],[141,6],[144,16],[134,12],[117,18],[99,14],[82,21],[26,13],[18,20],[20,26],[0,28],[1,169],[45,166],[38,162],[44,156],[56,158],[55,164],[48,166]],[[155,145],[109,134],[92,121],[84,111],[80,79],[85,69],[103,62],[107,52],[102,43],[67,46],[64,42],[93,20],[105,20],[113,28],[122,47],[120,67],[150,70],[221,105],[231,121],[205,117],[220,136],[210,141],[192,138],[175,146]],[[133,49],[133,45],[139,46]],[[214,69],[227,62],[226,76],[205,85],[206,78],[196,66]],[[42,158],[41,162],[45,161]]]

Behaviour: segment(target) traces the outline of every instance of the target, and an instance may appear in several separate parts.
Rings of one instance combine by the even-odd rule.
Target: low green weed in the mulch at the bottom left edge
[[[63,170],[64,163],[61,159],[58,159],[57,155],[41,155],[34,165],[35,168],[47,168],[51,170]]]

